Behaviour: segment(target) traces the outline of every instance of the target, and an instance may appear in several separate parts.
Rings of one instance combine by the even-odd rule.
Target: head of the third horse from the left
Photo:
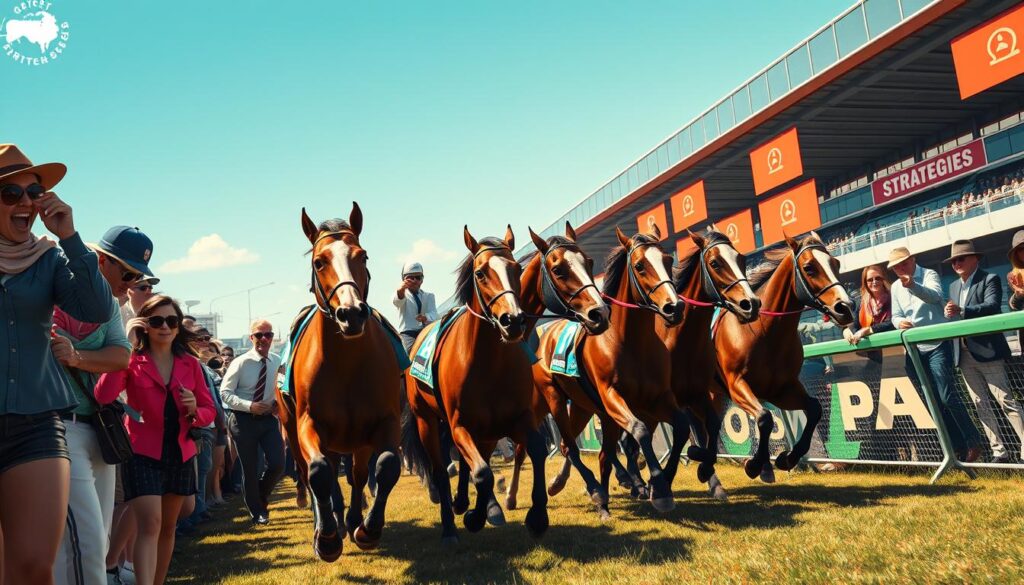
[[[529,237],[541,254],[541,297],[545,307],[580,321],[594,335],[604,333],[611,311],[594,284],[594,260],[577,245],[572,225],[565,222],[564,238],[545,240],[532,228]]]

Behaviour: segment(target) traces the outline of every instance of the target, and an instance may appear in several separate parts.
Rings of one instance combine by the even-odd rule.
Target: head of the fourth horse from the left
[[[651,224],[647,234],[637,234],[628,238],[615,226],[621,249],[612,252],[626,254],[626,273],[629,276],[631,296],[636,304],[656,312],[669,326],[676,326],[683,320],[683,301],[672,285],[672,256],[658,245],[662,232]]]

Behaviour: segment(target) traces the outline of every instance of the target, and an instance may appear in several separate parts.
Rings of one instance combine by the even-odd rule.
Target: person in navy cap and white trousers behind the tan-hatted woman
[[[153,242],[137,227],[113,227],[98,244],[99,274],[114,298],[124,296],[131,283],[151,277]],[[63,366],[78,406],[61,414],[71,455],[71,497],[68,523],[53,566],[54,581],[105,583],[106,546],[114,512],[115,466],[103,461],[92,423],[96,405],[93,389],[100,374],[128,367],[131,344],[125,336],[121,309],[112,305],[101,324],[83,323],[60,308],[53,310],[54,358]]]

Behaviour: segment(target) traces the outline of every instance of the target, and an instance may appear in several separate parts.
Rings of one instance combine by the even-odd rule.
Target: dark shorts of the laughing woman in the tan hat
[[[0,473],[37,459],[71,461],[65,425],[56,412],[0,415]]]

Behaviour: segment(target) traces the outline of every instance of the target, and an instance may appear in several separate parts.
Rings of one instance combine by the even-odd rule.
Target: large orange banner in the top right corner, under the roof
[[[956,37],[949,43],[961,99],[1024,73],[1024,5]]]

